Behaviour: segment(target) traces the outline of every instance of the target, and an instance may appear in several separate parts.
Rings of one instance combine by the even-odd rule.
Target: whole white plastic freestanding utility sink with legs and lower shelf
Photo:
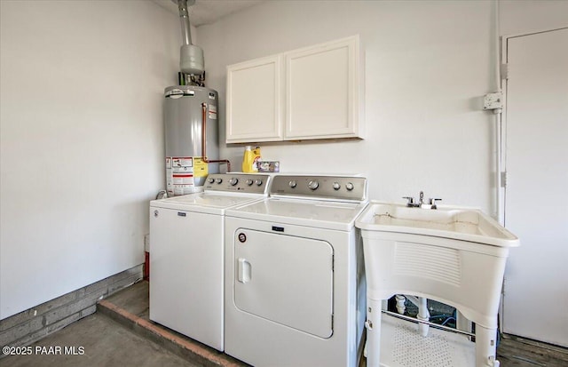
[[[433,353],[436,359],[441,354],[435,349],[440,353],[447,348],[428,343],[415,347],[425,340],[418,338],[410,343],[413,347],[404,344],[402,357],[393,352],[396,347],[381,351],[381,329],[387,338],[398,335],[390,334],[380,311],[383,300],[395,294],[437,299],[476,323],[476,342],[463,336],[464,342],[452,347],[459,347],[458,355],[470,355],[468,362],[448,356],[444,359],[447,365],[498,365],[493,362],[501,284],[509,249],[519,245],[516,235],[483,211],[446,205],[430,209],[373,201],[355,225],[361,230],[367,277],[367,366],[406,365],[399,361],[406,355],[418,355],[413,361],[426,361],[424,353]]]

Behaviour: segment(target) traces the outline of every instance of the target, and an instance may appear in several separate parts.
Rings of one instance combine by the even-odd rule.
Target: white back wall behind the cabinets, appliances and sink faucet
[[[362,173],[375,199],[424,190],[492,212],[494,123],[481,110],[495,89],[492,22],[486,1],[273,1],[197,29],[220,100],[227,64],[359,34],[367,139],[261,144],[263,156],[287,172]],[[221,156],[238,167],[242,151],[222,144]]]

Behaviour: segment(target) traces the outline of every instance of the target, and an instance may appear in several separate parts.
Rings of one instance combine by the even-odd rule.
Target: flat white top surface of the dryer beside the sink
[[[341,203],[271,197],[261,202],[232,208],[227,210],[225,215],[348,231],[354,227],[355,219],[366,206],[367,202]]]

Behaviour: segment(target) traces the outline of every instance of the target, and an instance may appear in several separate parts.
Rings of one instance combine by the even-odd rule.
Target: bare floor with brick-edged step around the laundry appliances
[[[0,359],[0,367],[247,366],[150,322],[147,282],[136,283],[100,301],[96,314],[72,323],[31,347],[33,355],[4,357]],[[78,355],[41,355],[41,352],[50,352],[42,347],[75,347]],[[83,347],[82,355],[79,347]],[[501,339],[497,355],[503,367],[568,366],[568,349],[533,340],[506,336]],[[366,366],[365,358],[359,366]]]

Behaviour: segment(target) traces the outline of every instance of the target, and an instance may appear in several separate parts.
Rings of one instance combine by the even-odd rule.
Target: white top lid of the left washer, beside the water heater
[[[174,196],[162,200],[153,200],[153,208],[176,209],[183,211],[199,211],[209,214],[221,215],[225,209],[245,203],[251,203],[264,198],[257,194],[224,194],[224,193],[196,193],[190,195]]]

